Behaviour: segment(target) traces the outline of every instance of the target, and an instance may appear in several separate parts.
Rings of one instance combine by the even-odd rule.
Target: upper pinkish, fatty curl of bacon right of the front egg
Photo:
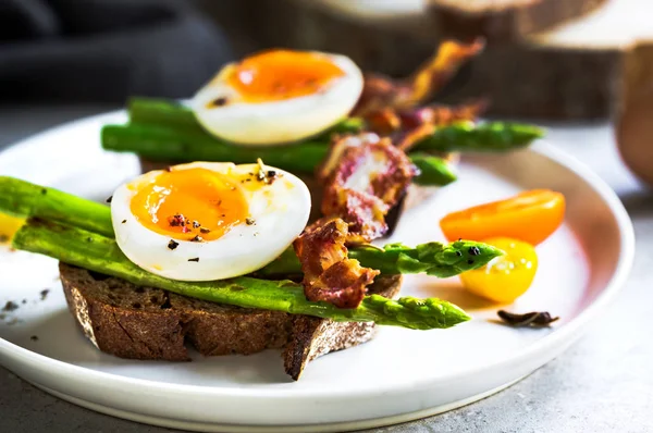
[[[349,224],[348,243],[381,237],[387,231],[385,214],[416,175],[390,138],[372,133],[337,138],[317,173],[324,185],[322,213]]]

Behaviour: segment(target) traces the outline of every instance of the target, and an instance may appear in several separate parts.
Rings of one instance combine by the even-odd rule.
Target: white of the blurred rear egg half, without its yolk
[[[226,65],[190,101],[198,122],[212,135],[241,145],[278,145],[317,135],[352,111],[362,91],[362,73],[349,58],[325,55],[344,71],[312,95],[281,101],[247,102],[229,85]],[[211,102],[226,98],[222,107]]]

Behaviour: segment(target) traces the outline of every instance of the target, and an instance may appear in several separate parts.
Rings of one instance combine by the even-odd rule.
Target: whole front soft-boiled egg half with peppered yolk
[[[181,281],[229,279],[264,267],[301,233],[309,213],[304,182],[260,161],[152,171],[120,186],[111,200],[124,255]]]

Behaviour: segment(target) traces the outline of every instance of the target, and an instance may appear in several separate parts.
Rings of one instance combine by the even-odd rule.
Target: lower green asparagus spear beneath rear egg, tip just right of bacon
[[[242,147],[227,145],[207,134],[194,134],[150,125],[106,125],[102,147],[119,152],[136,152],[159,161],[231,161],[248,163],[261,158],[267,164],[291,172],[311,173],[329,152],[326,141],[307,141],[299,146]],[[455,178],[446,161],[418,154],[416,165],[424,177],[422,185],[446,185]]]

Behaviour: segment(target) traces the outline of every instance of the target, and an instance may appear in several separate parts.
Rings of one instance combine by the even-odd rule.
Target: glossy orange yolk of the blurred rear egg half
[[[325,55],[288,50],[261,52],[239,62],[227,82],[250,102],[316,94],[345,72]]]

